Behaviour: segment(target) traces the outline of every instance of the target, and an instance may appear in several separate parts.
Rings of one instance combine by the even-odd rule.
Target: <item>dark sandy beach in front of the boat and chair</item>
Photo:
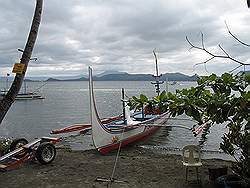
[[[29,162],[7,172],[0,172],[0,187],[107,187],[97,178],[110,178],[116,152],[101,155],[96,150],[69,151],[58,149],[56,159],[48,165]],[[122,181],[110,187],[213,187],[208,168],[231,166],[230,161],[202,160],[201,184],[196,183],[195,169],[189,171],[185,182],[182,157],[158,154],[140,147],[127,147],[120,153],[114,178]]]

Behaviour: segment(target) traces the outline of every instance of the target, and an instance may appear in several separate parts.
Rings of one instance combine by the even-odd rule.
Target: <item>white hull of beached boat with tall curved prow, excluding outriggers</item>
[[[89,95],[91,112],[91,129],[94,146],[106,154],[119,147],[145,139],[155,133],[167,122],[168,114],[150,114],[142,118],[130,115],[129,107],[125,107],[124,120],[111,120],[103,123],[99,117],[93,88],[92,69],[89,67]],[[155,126],[158,125],[158,126]]]

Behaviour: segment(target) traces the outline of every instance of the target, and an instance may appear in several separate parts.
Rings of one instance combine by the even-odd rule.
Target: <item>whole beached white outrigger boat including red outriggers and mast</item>
[[[153,75],[155,82],[151,82],[155,85],[156,93],[160,94],[160,81],[161,74],[158,71],[158,64],[156,54],[153,51],[156,60],[156,75]],[[124,95],[124,94],[123,94]],[[154,134],[161,127],[179,127],[191,130],[195,136],[197,136],[202,130],[203,126],[198,128],[190,128],[183,125],[166,125],[170,119],[169,113],[144,113],[144,109],[141,112],[134,114],[130,113],[129,107],[126,106],[126,102],[123,99],[123,116],[114,116],[106,119],[101,119],[98,114],[92,69],[89,67],[89,96],[90,96],[90,124],[76,124],[62,129],[51,131],[51,134],[69,133],[74,131],[80,131],[80,133],[86,133],[92,130],[92,139],[95,148],[102,154],[106,154],[112,150],[134,143],[136,141],[143,140],[150,135]]]

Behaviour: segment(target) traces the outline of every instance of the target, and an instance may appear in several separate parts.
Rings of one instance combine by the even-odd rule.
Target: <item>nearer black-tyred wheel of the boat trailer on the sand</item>
[[[41,164],[49,164],[56,157],[56,148],[50,142],[43,142],[38,146],[35,156]]]

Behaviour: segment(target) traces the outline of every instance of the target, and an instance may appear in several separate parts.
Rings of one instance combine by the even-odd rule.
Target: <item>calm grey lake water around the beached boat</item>
[[[0,84],[0,88],[5,86],[4,82]],[[42,84],[28,82],[27,90],[33,91]],[[178,82],[175,85],[162,85],[162,89],[167,88],[174,92],[177,88],[189,88],[195,85],[195,82]],[[98,111],[102,118],[122,112],[121,88],[125,88],[126,95],[129,97],[138,96],[140,93],[147,96],[155,95],[155,88],[150,82],[97,81],[94,83],[94,87]],[[32,140],[37,137],[49,136],[49,132],[53,129],[90,122],[88,82],[48,82],[41,89],[41,93],[45,97],[43,100],[14,102],[0,125],[0,137],[25,137]],[[169,124],[185,124],[192,127],[194,123],[170,120]],[[202,138],[201,136],[194,137],[191,131],[186,129],[163,127],[140,146],[157,152],[180,153],[181,148],[187,144],[202,143],[204,157],[229,159],[219,150],[219,143],[224,132],[226,132],[225,126],[215,125],[210,129],[210,133]],[[90,134],[68,136],[65,138],[64,144],[75,150],[93,148]]]

